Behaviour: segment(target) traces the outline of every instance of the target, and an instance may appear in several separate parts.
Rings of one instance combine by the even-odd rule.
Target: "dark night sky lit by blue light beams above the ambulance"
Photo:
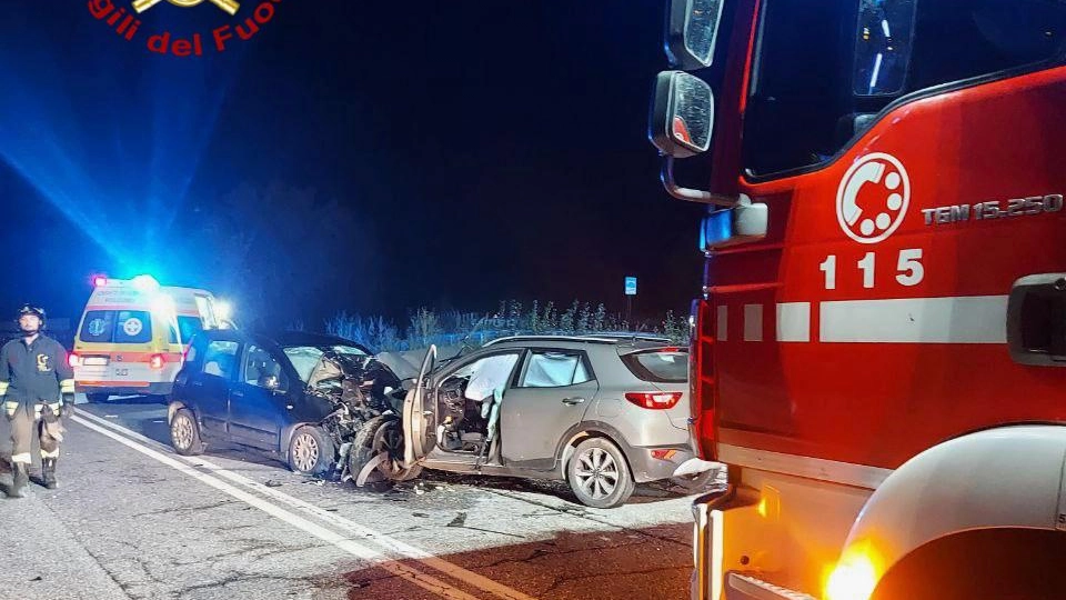
[[[0,310],[77,316],[94,272],[311,322],[504,298],[620,310],[626,274],[641,311],[697,293],[701,210],[662,191],[645,134],[661,1],[283,0],[203,58],[144,42],[234,22],[210,2],[157,6],[133,42],[84,1],[18,6],[0,22]],[[220,274],[238,236],[261,261],[242,279]]]

